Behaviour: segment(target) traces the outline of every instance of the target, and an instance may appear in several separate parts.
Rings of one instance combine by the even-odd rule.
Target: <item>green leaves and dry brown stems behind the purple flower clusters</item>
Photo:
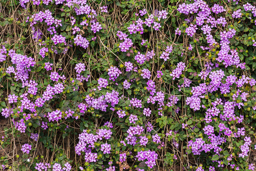
[[[94,17],[86,14],[77,15],[76,9],[79,5],[71,7],[65,5],[67,2],[56,5],[55,1],[38,1],[40,5],[33,5],[36,1],[1,0],[0,13],[0,112],[10,109],[7,119],[10,127],[2,128],[0,137],[1,149],[3,156],[0,158],[0,170],[35,170],[36,163],[49,163],[54,169],[54,164],[58,163],[64,167],[66,162],[72,165],[72,169],[79,170],[105,170],[110,166],[115,166],[116,170],[254,170],[255,163],[255,126],[256,126],[256,107],[255,107],[255,83],[256,78],[256,58],[255,58],[255,17],[254,11],[245,10],[244,5],[247,2],[252,6],[256,6],[253,1],[205,1],[209,6],[210,16],[219,19],[224,18],[224,22],[217,23],[211,27],[210,31],[216,42],[210,43],[209,37],[204,34],[201,26],[197,26],[193,36],[188,35],[188,28],[197,25],[197,13],[189,13],[188,15],[180,13],[179,5],[192,4],[194,1],[91,1],[85,4],[96,11],[96,21],[101,25],[99,31],[91,29]],[[84,1],[85,2],[85,1]],[[201,2],[201,1],[198,1]],[[202,1],[203,2],[203,1]],[[202,3],[204,4],[204,3]],[[223,6],[225,11],[221,13],[213,13],[213,6],[218,4]],[[107,13],[101,12],[100,7],[107,6]],[[198,5],[199,6],[199,5]],[[205,6],[205,5],[204,5]],[[199,8],[199,7],[198,7]],[[147,13],[140,15],[140,10],[145,9]],[[232,17],[234,11],[241,9],[241,17]],[[52,17],[60,20],[62,25],[56,27],[56,35],[62,35],[65,43],[55,43],[55,34],[50,34],[47,29],[49,26],[46,21],[37,21],[31,26],[34,14],[39,11],[49,10]],[[165,10],[168,15],[166,18],[158,18],[159,11]],[[191,9],[190,11],[192,11]],[[160,23],[160,28],[143,25],[143,33],[135,31],[130,34],[129,28],[133,23],[141,18],[143,21],[153,14],[153,19]],[[90,14],[94,15],[94,14]],[[28,18],[29,17],[29,18]],[[75,19],[75,21],[74,21]],[[87,21],[83,26],[81,22]],[[211,26],[212,23],[205,25]],[[74,25],[72,24],[74,22]],[[80,31],[73,33],[73,28],[79,27]],[[180,35],[177,33],[180,30]],[[36,30],[40,30],[42,35],[36,38]],[[187,31],[186,31],[187,30]],[[223,34],[229,34],[230,30],[234,30],[233,36],[227,36],[228,46],[231,50],[228,54],[234,56],[230,60],[239,60],[240,65],[227,64],[225,60],[220,60],[220,51],[224,46],[222,39]],[[132,40],[132,46],[129,50],[122,51],[120,44],[124,42],[117,31],[123,31]],[[39,32],[39,31],[38,31]],[[224,33],[225,32],[225,33]],[[76,35],[82,35],[89,42],[87,48],[83,48],[82,44],[75,42]],[[143,40],[147,40],[145,43]],[[255,45],[255,46],[254,46]],[[168,59],[160,58],[166,48],[172,46]],[[47,48],[44,56],[40,54],[40,49]],[[6,49],[6,53],[3,52]],[[17,80],[17,74],[8,73],[7,68],[13,66],[15,72],[18,70],[19,63],[26,61],[25,58],[14,62],[11,54],[14,50],[16,54],[26,55],[31,58],[34,64],[27,64],[23,67],[28,74],[28,81],[34,80],[37,85],[36,93],[30,92],[30,83],[23,83],[23,80]],[[142,64],[138,63],[135,56],[148,54],[153,51],[155,56],[145,60]],[[6,56],[6,58],[4,57]],[[225,55],[224,55],[225,56]],[[226,55],[228,56],[228,55]],[[238,59],[235,59],[238,56]],[[17,57],[18,58],[18,57]],[[226,58],[226,57],[224,57]],[[5,59],[5,60],[2,60]],[[52,63],[51,70],[46,70],[45,63]],[[131,62],[137,71],[126,71],[125,62]],[[179,68],[178,63],[184,63],[182,73],[173,76],[174,70]],[[32,62],[31,62],[32,63]],[[77,64],[84,64],[86,70],[80,73],[80,77],[87,78],[80,82],[78,79]],[[244,65],[244,68],[243,68]],[[25,64],[26,66],[26,64]],[[121,71],[115,81],[109,79],[109,68],[117,67]],[[210,67],[209,67],[210,66]],[[143,77],[143,70],[150,71],[148,78]],[[7,72],[6,72],[7,71]],[[161,71],[162,75],[157,76]],[[223,71],[224,76],[212,76],[210,73]],[[60,76],[66,78],[54,81],[51,79],[52,72],[58,72]],[[205,78],[204,75],[206,72]],[[200,75],[201,73],[201,75]],[[26,75],[26,74],[24,74]],[[229,76],[236,76],[235,82],[227,85],[229,88],[223,93],[220,85],[227,83]],[[107,79],[108,86],[99,89],[99,78]],[[184,86],[184,82],[189,79],[189,86]],[[218,83],[215,83],[215,79]],[[244,82],[242,81],[244,79]],[[129,88],[124,88],[123,84],[131,83]],[[164,99],[161,100],[160,95],[153,93],[151,95],[148,87],[148,80],[155,82],[156,92],[161,92]],[[255,80],[254,80],[255,81]],[[239,83],[241,86],[239,86]],[[252,82],[252,83],[251,83]],[[46,100],[42,107],[35,106],[34,111],[29,107],[22,111],[19,106],[25,105],[22,100],[24,96],[30,100],[29,105],[36,104],[36,99],[43,96],[47,91],[47,86],[56,86],[62,84],[64,88],[60,93],[55,93],[51,99]],[[210,88],[204,92],[204,88],[199,90],[200,109],[195,109],[192,103],[196,103],[196,99],[188,104],[188,97],[194,97],[195,89],[205,84],[217,87],[217,90],[211,91]],[[220,84],[220,85],[217,85]],[[216,86],[217,85],[217,86]],[[203,87],[203,86],[202,86]],[[117,92],[119,100],[112,105],[115,100],[108,100],[108,107],[105,111],[100,108],[88,105],[86,99],[107,98],[108,93]],[[201,91],[201,92],[200,92]],[[27,95],[26,95],[27,93]],[[242,93],[246,97],[242,97]],[[10,95],[18,96],[16,103],[10,103]],[[156,97],[155,102],[148,102],[153,96]],[[170,99],[169,99],[170,97]],[[177,102],[173,102],[173,97],[177,97]],[[141,107],[131,105],[132,98],[141,100]],[[159,98],[159,100],[157,100]],[[118,99],[118,98],[117,98]],[[218,104],[220,115],[225,115],[229,107],[225,107],[226,101],[230,102],[230,110],[235,117],[234,120],[227,117],[227,120],[216,115],[212,117],[212,121],[206,121],[208,109],[213,108],[214,101],[222,100],[222,104]],[[246,99],[246,100],[245,100]],[[104,101],[104,99],[101,99]],[[100,100],[99,100],[100,101]],[[97,102],[100,104],[100,102]],[[163,102],[163,105],[161,104]],[[168,104],[169,102],[169,104]],[[82,111],[79,106],[81,103],[86,105],[86,110]],[[239,104],[241,103],[241,104]],[[97,105],[97,104],[95,104]],[[102,104],[100,104],[102,105]],[[197,105],[197,104],[194,104]],[[151,109],[150,116],[145,116],[144,108]],[[232,112],[233,109],[233,112]],[[49,121],[47,115],[54,111],[60,111],[61,119]],[[74,111],[72,117],[68,117],[66,111]],[[123,118],[117,115],[117,111],[124,111]],[[30,116],[29,116],[30,115]],[[131,115],[136,115],[135,123],[129,120]],[[29,119],[26,119],[30,117]],[[231,118],[231,117],[230,117]],[[0,116],[0,120],[5,117]],[[242,121],[239,121],[242,120]],[[42,122],[47,124],[47,129],[42,128]],[[113,127],[104,125],[104,123],[112,123]],[[17,129],[17,123],[26,125],[25,132]],[[152,124],[153,130],[147,132],[148,123]],[[220,130],[220,124],[224,124],[226,129]],[[144,131],[141,135],[136,135],[137,144],[127,144],[128,130],[131,127],[143,127]],[[218,144],[219,150],[215,148],[202,150],[209,146],[213,141],[205,132],[204,128],[211,125],[214,129],[214,135],[225,139]],[[238,135],[239,130],[245,129],[245,135]],[[79,143],[79,135],[84,130],[87,133],[97,135],[99,129],[111,130],[110,139],[103,139],[95,142],[93,152],[97,153],[96,162],[86,162],[84,155],[78,155],[75,152],[75,146]],[[228,133],[230,132],[230,135]],[[38,140],[34,141],[30,137],[32,133],[39,135]],[[153,141],[153,136],[158,135],[161,143]],[[147,145],[140,145],[140,136],[148,138]],[[246,146],[247,138],[250,137],[251,143]],[[246,139],[246,140],[245,140]],[[17,141],[17,140],[22,140]],[[26,141],[26,142],[25,142]],[[126,146],[121,141],[126,143]],[[200,144],[204,141],[204,145],[196,147],[200,151],[196,154],[193,151],[193,145]],[[217,140],[222,141],[222,140]],[[190,142],[190,144],[189,144]],[[29,154],[21,152],[23,144],[30,144],[32,149]],[[101,144],[111,144],[111,153],[105,154],[100,150]],[[242,148],[245,147],[247,155],[241,157]],[[87,146],[88,148],[88,146]],[[138,160],[138,152],[148,151],[157,153],[156,165],[149,168],[145,161]],[[125,153],[127,158],[124,162],[120,161],[120,154]],[[111,163],[112,162],[112,163]],[[211,168],[210,168],[211,166]]]

